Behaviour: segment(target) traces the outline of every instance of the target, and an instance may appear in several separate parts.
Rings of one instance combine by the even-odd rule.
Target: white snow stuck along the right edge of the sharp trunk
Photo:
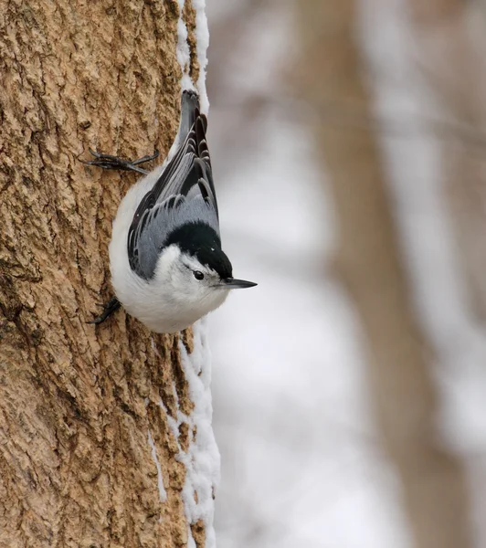
[[[189,76],[190,48],[187,42],[187,27],[183,20],[185,0],[178,0],[178,5],[176,55],[183,73],[181,88],[183,90],[197,88],[201,111],[207,112],[209,101],[206,93],[206,50],[209,44],[209,31],[205,13],[205,0],[193,0],[196,12],[196,55],[200,66],[197,82],[193,82]],[[158,405],[164,409],[169,427],[177,440],[179,453],[176,458],[185,465],[185,485],[182,495],[188,524],[188,546],[195,546],[190,525],[202,520],[206,529],[206,548],[214,548],[216,538],[213,525],[215,511],[213,493],[219,481],[220,459],[211,424],[213,414],[210,387],[211,355],[207,347],[206,322],[204,320],[198,321],[194,326],[194,344],[194,352],[190,354],[187,353],[183,342],[179,344],[185,379],[189,385],[191,401],[195,406],[193,413],[186,416],[178,410],[175,419],[169,415],[162,400],[158,402]],[[153,340],[152,346],[155,348]],[[173,389],[177,401],[175,387]],[[179,427],[183,423],[189,426],[189,448],[187,452],[183,450],[178,441]],[[162,468],[157,458],[156,447],[150,430],[148,432],[148,442],[152,450],[153,461],[157,467],[157,485],[160,500],[164,502],[167,495],[164,490]]]

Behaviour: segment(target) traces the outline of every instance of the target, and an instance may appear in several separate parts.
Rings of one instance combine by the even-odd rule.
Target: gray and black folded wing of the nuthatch
[[[203,222],[219,236],[217,199],[206,143],[207,120],[198,108],[185,141],[143,197],[128,232],[130,267],[151,279],[164,243],[175,228]]]

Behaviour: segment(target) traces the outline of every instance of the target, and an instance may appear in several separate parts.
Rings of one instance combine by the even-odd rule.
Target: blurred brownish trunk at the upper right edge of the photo
[[[437,100],[447,137],[444,184],[470,313],[486,320],[486,4],[409,0],[417,66]],[[433,127],[433,124],[432,124]],[[451,146],[452,144],[452,146]]]

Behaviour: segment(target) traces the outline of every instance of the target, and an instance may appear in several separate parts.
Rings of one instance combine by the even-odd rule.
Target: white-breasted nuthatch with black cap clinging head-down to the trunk
[[[92,323],[122,305],[153,332],[179,332],[217,309],[229,290],[257,285],[233,278],[221,248],[206,128],[197,94],[185,90],[174,144],[153,172],[139,165],[158,153],[130,162],[90,151],[96,156],[90,165],[145,175],[125,195],[113,221],[110,269],[116,297]]]

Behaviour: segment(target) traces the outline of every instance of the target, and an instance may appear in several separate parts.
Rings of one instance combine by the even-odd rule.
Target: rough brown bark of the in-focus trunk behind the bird
[[[184,16],[196,79],[187,0]],[[167,153],[178,18],[174,0],[0,0],[0,548],[187,543],[188,428],[177,439],[168,419],[193,409],[192,332],[123,311],[86,323],[111,296],[111,221],[136,176],[79,162]]]

